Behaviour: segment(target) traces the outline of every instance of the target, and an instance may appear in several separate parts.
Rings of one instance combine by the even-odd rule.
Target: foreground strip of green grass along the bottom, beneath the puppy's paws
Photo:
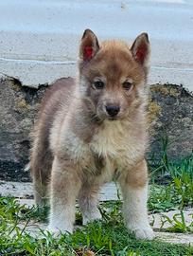
[[[59,239],[40,230],[41,238],[36,239],[25,229],[18,228],[19,221],[26,219],[28,223],[31,212],[11,198],[1,198],[0,255],[89,255],[86,254],[88,249],[96,255],[192,255],[193,248],[188,246],[136,240],[119,218],[119,205],[111,203],[105,207],[110,209],[109,215],[113,218],[104,218],[102,222],[78,229],[73,235],[61,235]],[[34,210],[34,218],[36,213]],[[85,253],[78,254],[80,248]]]

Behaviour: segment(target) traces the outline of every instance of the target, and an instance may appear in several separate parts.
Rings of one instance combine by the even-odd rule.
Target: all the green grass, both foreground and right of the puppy
[[[163,216],[163,224],[169,222],[169,231],[193,232],[193,222],[187,225],[184,208],[193,206],[193,154],[179,162],[169,162],[164,155],[158,166],[151,168],[149,211],[179,210],[172,219]],[[165,182],[163,182],[163,180]],[[13,198],[0,198],[0,255],[95,255],[119,256],[190,256],[193,248],[171,245],[157,239],[138,241],[124,228],[121,215],[122,202],[101,203],[99,210],[103,221],[78,229],[72,235],[55,239],[49,232],[40,230],[37,239],[26,232],[29,221],[45,221],[48,209],[27,209]],[[77,223],[81,223],[79,210]],[[26,223],[20,229],[18,224]],[[90,252],[89,252],[90,250]],[[89,254],[90,253],[90,254]]]

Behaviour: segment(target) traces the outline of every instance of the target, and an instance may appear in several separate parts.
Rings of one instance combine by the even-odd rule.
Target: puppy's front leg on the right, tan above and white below
[[[148,171],[146,161],[121,177],[124,217],[127,228],[139,239],[153,239],[148,219]]]

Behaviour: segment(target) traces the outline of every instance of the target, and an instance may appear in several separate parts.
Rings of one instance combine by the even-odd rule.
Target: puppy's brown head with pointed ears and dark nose
[[[145,101],[149,52],[146,33],[130,47],[118,41],[99,45],[93,31],[84,31],[79,47],[80,93],[92,103],[98,119],[126,119]]]

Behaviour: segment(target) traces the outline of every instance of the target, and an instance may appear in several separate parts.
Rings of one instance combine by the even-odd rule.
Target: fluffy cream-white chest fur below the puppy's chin
[[[107,122],[93,137],[90,146],[97,155],[107,158],[114,169],[120,171],[132,166],[143,151],[143,144],[137,137],[132,137],[119,121]]]

